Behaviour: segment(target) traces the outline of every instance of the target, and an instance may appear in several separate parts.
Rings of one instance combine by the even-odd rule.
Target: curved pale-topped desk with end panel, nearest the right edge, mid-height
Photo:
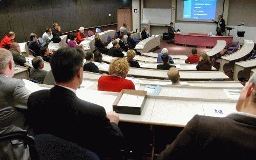
[[[254,47],[254,42],[252,40],[244,39],[243,47],[237,52],[221,57],[220,71],[223,71],[225,64],[233,61],[240,61],[241,58],[248,55]]]

